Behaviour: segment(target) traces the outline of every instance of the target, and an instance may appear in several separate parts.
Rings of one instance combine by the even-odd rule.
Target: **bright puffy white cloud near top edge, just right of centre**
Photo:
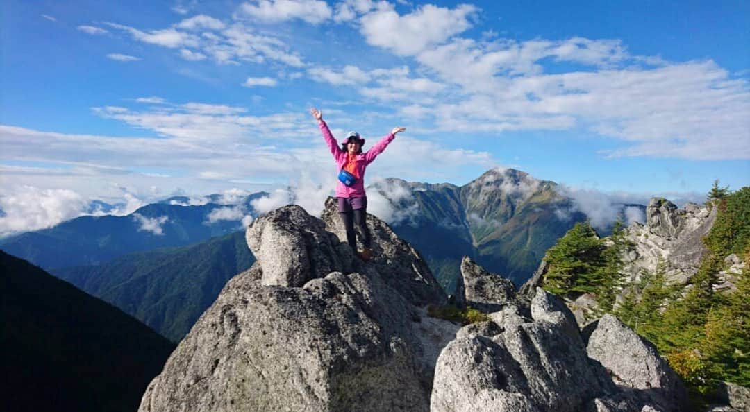
[[[459,4],[454,9],[425,4],[404,16],[383,9],[362,16],[360,31],[373,46],[390,49],[397,55],[417,55],[470,28],[469,19],[477,12],[469,4]]]

